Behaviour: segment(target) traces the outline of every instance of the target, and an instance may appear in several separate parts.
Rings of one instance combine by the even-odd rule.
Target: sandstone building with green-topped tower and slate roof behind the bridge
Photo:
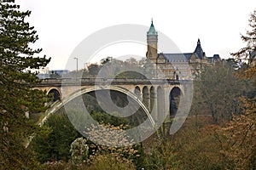
[[[147,59],[150,59],[157,66],[157,71],[162,71],[170,79],[189,79],[189,71],[195,77],[201,72],[204,65],[212,65],[221,61],[218,54],[207,57],[201,48],[200,39],[197,41],[195,51],[183,54],[165,54],[157,52],[158,33],[154,29],[153,20],[147,32],[148,51]],[[159,76],[159,74],[156,73]]]

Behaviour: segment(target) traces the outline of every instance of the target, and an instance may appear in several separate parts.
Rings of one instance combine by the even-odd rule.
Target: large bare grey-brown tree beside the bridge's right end
[[[232,114],[241,114],[239,97],[247,94],[249,85],[234,75],[229,65],[207,66],[194,83],[192,115],[211,115],[213,121],[230,121]]]

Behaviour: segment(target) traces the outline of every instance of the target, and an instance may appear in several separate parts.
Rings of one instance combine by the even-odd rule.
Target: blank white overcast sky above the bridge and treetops
[[[207,56],[220,54],[228,58],[231,52],[245,46],[240,33],[248,29],[249,14],[256,8],[255,0],[17,0],[17,3],[22,9],[32,10],[28,21],[39,36],[35,47],[44,49],[42,56],[52,58],[48,65],[51,70],[65,69],[73,49],[95,31],[119,24],[149,28],[151,18],[155,29],[170,37],[181,52],[193,52],[200,38]],[[129,47],[125,48],[128,51],[108,48],[98,57],[146,54],[144,46]],[[71,65],[75,70],[75,59]],[[79,63],[81,68],[83,63]]]

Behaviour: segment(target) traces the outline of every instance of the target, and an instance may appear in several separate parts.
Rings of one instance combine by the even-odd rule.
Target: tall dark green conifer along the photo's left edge
[[[31,12],[19,8],[15,0],[0,0],[0,169],[35,166],[24,139],[37,128],[25,115],[44,111],[47,101],[44,92],[32,90],[39,82],[32,70],[50,59],[33,57],[42,49],[29,47],[38,36],[25,21]]]

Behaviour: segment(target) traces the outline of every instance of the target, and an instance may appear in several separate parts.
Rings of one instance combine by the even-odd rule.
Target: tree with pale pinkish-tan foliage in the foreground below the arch
[[[91,127],[84,130],[86,136],[91,142],[89,148],[94,150],[90,155],[90,161],[92,164],[96,163],[105,164],[106,169],[127,169],[123,166],[119,167],[119,162],[127,165],[128,169],[133,169],[133,161],[136,161],[140,157],[138,144],[133,144],[132,139],[125,133],[125,126],[113,126],[110,124],[100,124],[95,126],[91,124]],[[106,162],[107,161],[107,162]],[[118,164],[117,164],[118,163]],[[102,169],[97,167],[97,169]]]

